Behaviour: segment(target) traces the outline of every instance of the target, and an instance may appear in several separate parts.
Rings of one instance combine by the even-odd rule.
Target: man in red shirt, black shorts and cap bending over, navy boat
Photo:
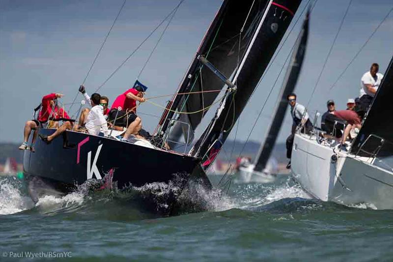
[[[126,127],[127,131],[124,134],[124,139],[128,139],[129,135],[135,135],[142,128],[142,121],[137,116],[137,101],[143,103],[144,91],[138,85],[128,89],[114,100],[111,110],[109,111],[109,120],[115,126]],[[120,110],[119,110],[120,109]]]

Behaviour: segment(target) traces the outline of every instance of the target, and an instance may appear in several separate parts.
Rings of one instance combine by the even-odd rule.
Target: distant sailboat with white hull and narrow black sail
[[[269,183],[276,179],[275,170],[277,170],[277,168],[275,167],[277,167],[277,164],[275,164],[275,159],[270,158],[270,156],[273,147],[276,144],[277,136],[279,135],[286,109],[288,107],[286,96],[292,93],[295,89],[302,69],[303,60],[306,55],[308,35],[309,12],[306,15],[302,30],[296,40],[295,48],[280,89],[278,101],[273,111],[273,119],[270,122],[264,143],[261,144],[254,159],[254,163],[243,161],[245,163],[240,164],[238,168],[239,176],[241,180],[245,182],[258,181],[262,183]]]

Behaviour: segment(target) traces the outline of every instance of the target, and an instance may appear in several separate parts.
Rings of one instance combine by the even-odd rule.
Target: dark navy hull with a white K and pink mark
[[[55,129],[39,131],[46,135],[54,132]],[[118,189],[169,182],[176,175],[186,182],[193,178],[211,186],[197,158],[165,150],[74,131],[66,131],[49,145],[37,138],[34,146],[34,153],[25,150],[24,173],[30,181],[38,177],[62,192],[91,178],[102,179],[109,173],[112,173],[111,184]]]

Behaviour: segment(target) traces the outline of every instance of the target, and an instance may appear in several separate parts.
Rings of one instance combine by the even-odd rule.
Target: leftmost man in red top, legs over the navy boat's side
[[[62,94],[52,93],[52,94],[45,95],[42,98],[41,110],[38,114],[38,119],[33,119],[26,122],[25,131],[24,131],[24,141],[22,145],[19,146],[19,149],[21,150],[30,149],[31,151],[34,152],[33,144],[37,138],[37,127],[40,125],[46,126],[48,119],[52,120],[52,119],[59,119],[59,118],[65,118],[65,119],[70,118],[62,108],[55,106],[55,100],[61,97],[63,97]],[[66,121],[65,123],[71,124],[69,121]],[[32,129],[34,129],[33,138],[31,141],[31,146],[28,146],[28,137],[30,136]]]

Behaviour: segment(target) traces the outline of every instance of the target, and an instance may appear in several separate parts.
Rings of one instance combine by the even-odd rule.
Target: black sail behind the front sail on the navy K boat
[[[253,19],[248,17],[250,8],[252,6],[263,8],[266,3],[267,0],[224,0],[202,39],[176,94],[168,103],[168,110],[165,110],[161,117],[158,126],[159,134],[168,131],[170,119],[179,119],[189,123],[191,135],[193,134],[209,106],[219,94],[216,90],[224,87],[224,83],[206,66],[203,66],[197,57],[199,55],[204,56],[226,77],[230,77],[238,66],[240,59],[244,56],[253,36],[253,31],[248,30],[253,28],[251,27]],[[247,25],[245,25],[245,21],[249,21]],[[244,29],[241,32],[242,28]],[[183,94],[188,92],[196,93]],[[198,113],[178,114],[175,112]],[[179,129],[176,128],[172,128],[170,132],[174,140],[176,140],[176,136],[181,134],[181,131],[179,132]]]

